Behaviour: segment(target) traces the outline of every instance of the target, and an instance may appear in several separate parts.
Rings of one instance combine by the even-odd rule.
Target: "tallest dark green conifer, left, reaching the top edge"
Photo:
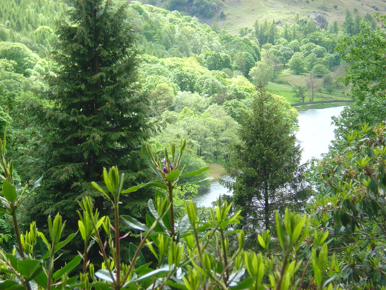
[[[126,20],[127,3],[70,2],[68,21],[56,24],[57,66],[48,80],[55,107],[41,123],[44,181],[27,211],[39,226],[56,212],[71,221],[85,195],[106,212],[103,197],[90,186],[100,181],[103,167],[118,165],[128,186],[144,177],[139,151],[148,136],[147,106],[136,94],[138,50]]]

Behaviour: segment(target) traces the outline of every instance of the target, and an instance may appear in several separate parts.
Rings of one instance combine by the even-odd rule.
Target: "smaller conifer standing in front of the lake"
[[[293,109],[292,109],[293,110]],[[279,96],[259,89],[250,110],[240,118],[240,142],[230,146],[228,174],[235,182],[233,203],[244,219],[241,227],[249,237],[247,247],[256,246],[262,229],[274,230],[274,211],[302,209],[310,196],[305,181],[306,164],[300,165],[301,148],[296,145],[296,111]]]

